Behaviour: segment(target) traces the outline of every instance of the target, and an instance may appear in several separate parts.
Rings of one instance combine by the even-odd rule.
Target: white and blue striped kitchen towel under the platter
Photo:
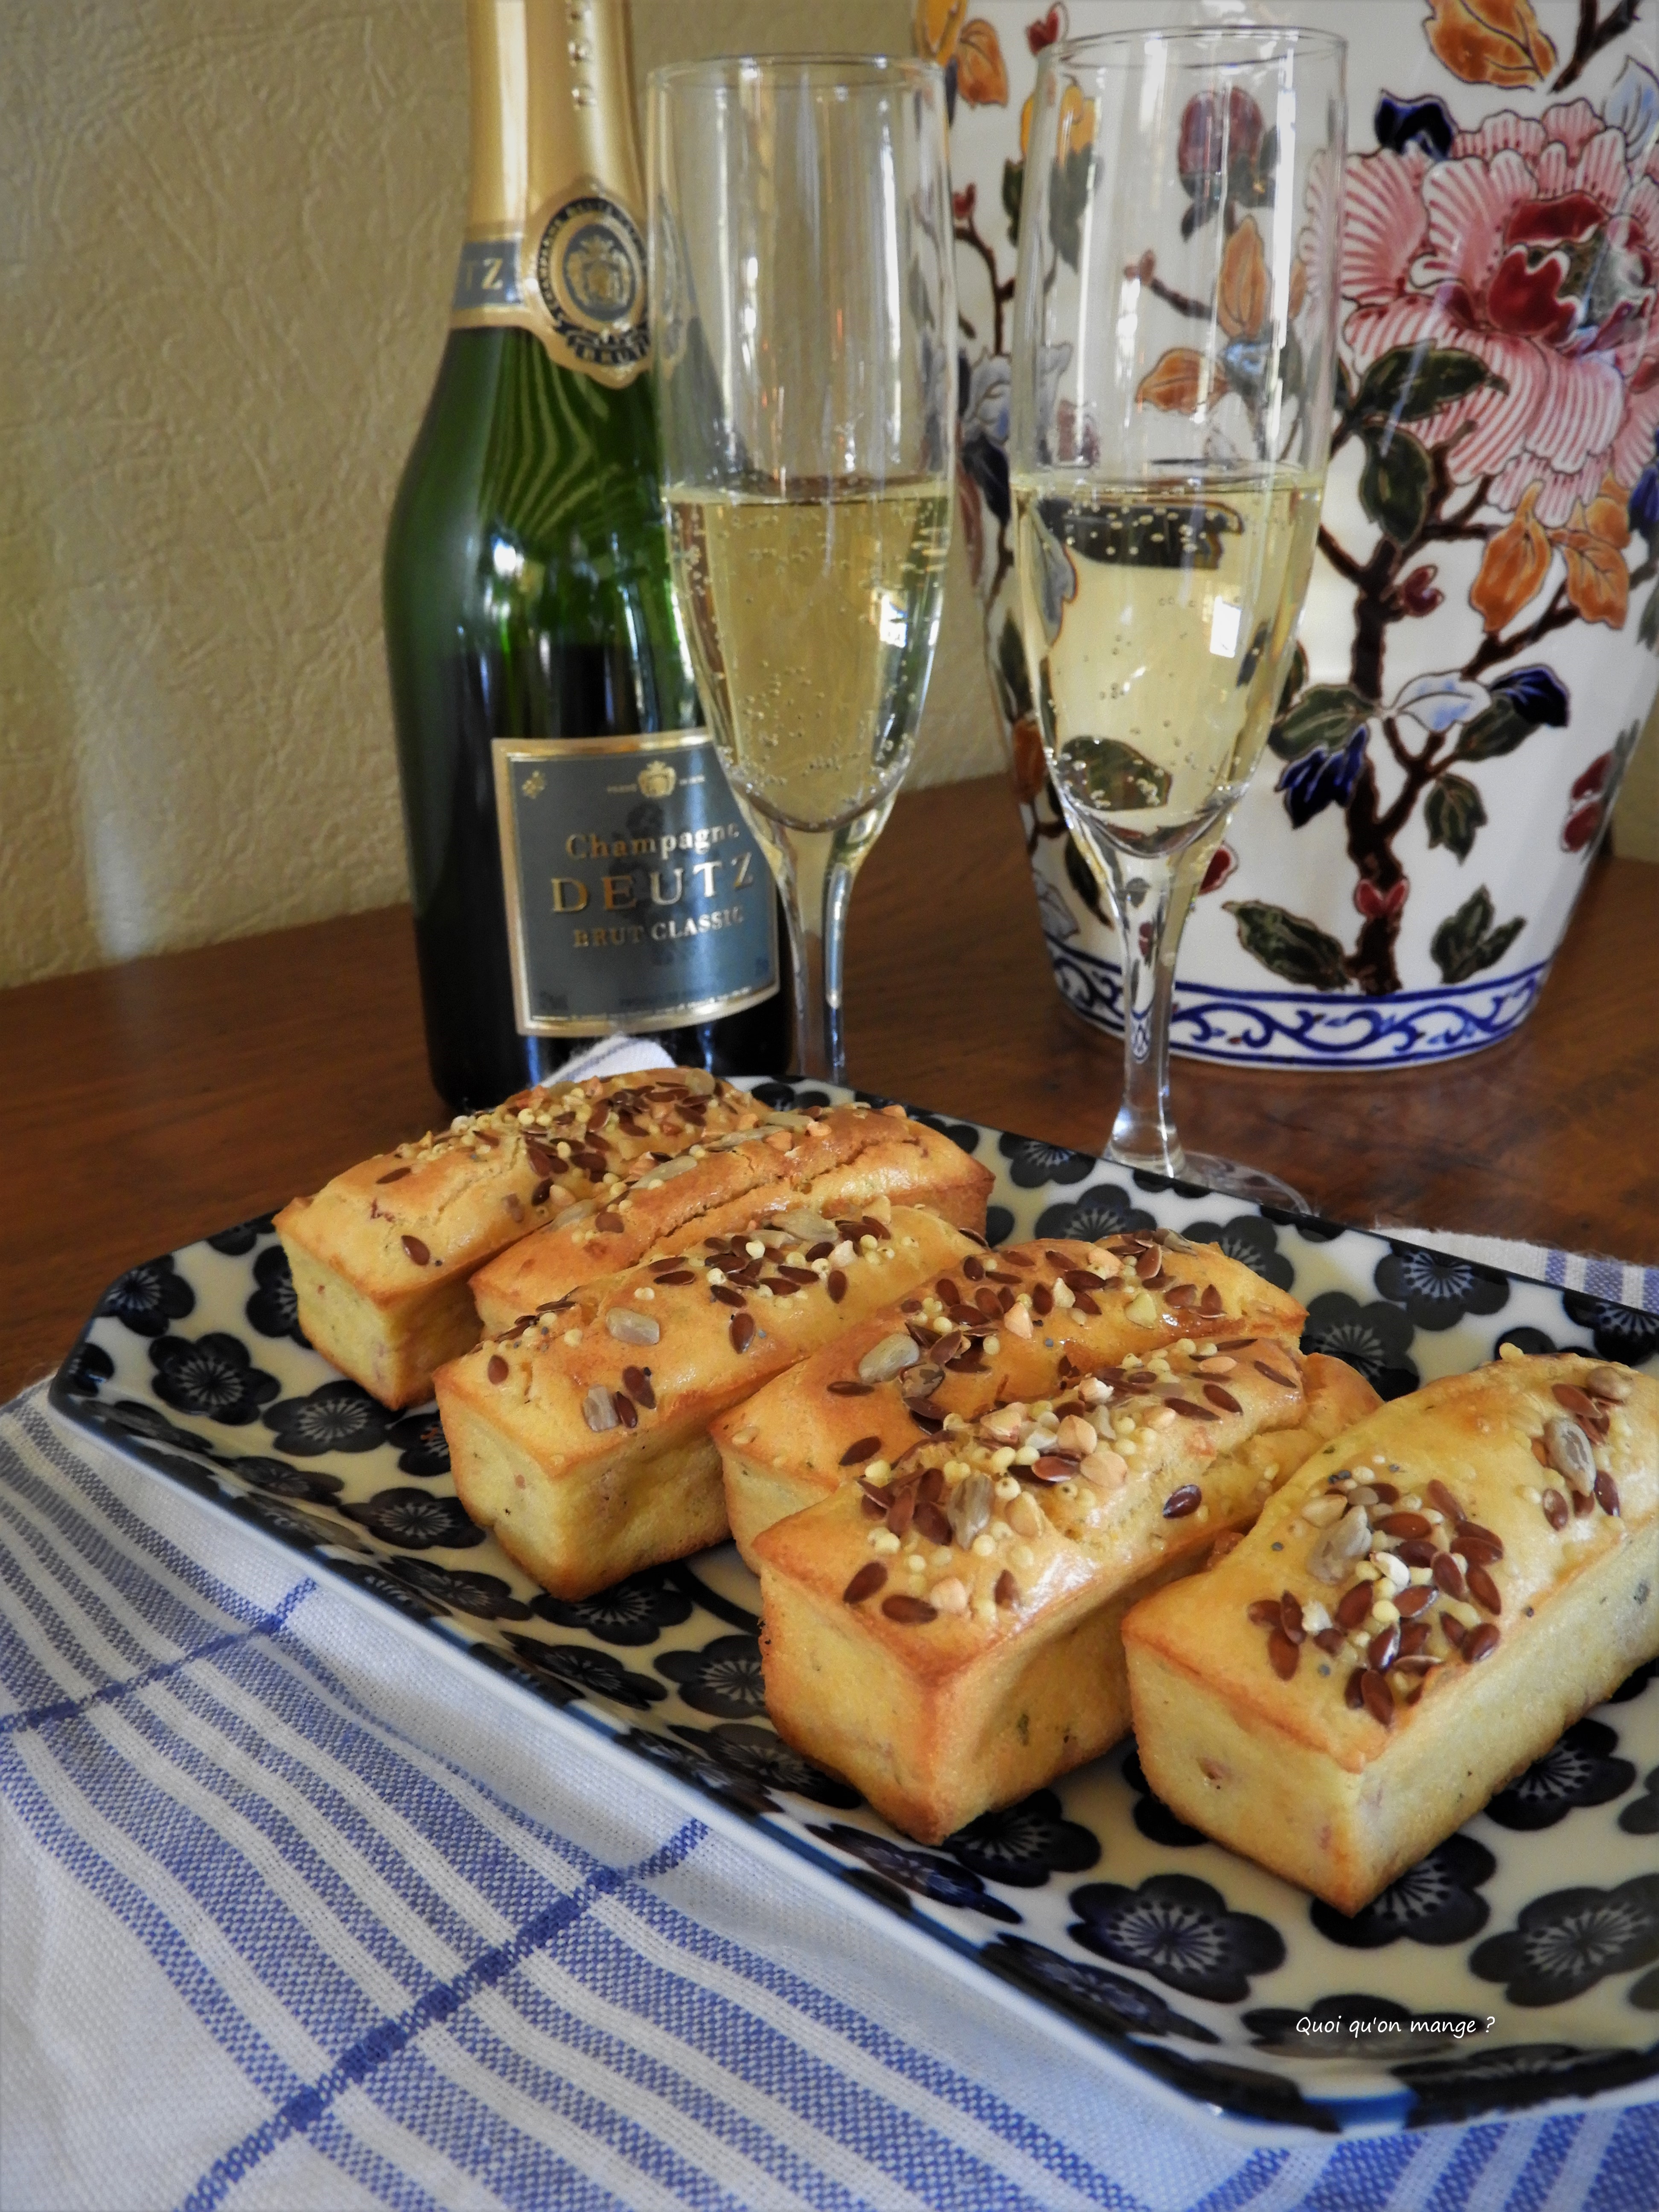
[[[1219,2128],[0,1411],[0,2205],[1641,2212],[1659,2106]]]

